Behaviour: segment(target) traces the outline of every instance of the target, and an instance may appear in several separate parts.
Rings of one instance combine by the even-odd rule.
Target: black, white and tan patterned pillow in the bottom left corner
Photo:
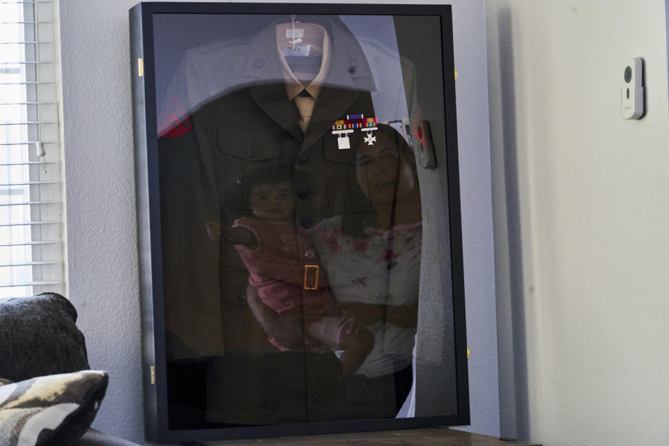
[[[0,445],[72,445],[91,426],[107,380],[91,370],[0,380]]]

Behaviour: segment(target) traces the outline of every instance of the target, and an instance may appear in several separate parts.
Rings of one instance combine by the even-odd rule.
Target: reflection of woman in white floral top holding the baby
[[[397,409],[411,387],[422,240],[415,159],[392,128],[357,151],[357,180],[374,212],[323,220],[312,230],[331,291],[374,334],[357,374],[394,374]]]

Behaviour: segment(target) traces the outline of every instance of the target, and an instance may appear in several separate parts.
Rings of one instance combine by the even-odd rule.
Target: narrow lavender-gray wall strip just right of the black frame
[[[453,6],[467,342],[472,352],[468,362],[472,420],[465,430],[498,436],[498,356],[484,4],[471,0],[445,3]]]

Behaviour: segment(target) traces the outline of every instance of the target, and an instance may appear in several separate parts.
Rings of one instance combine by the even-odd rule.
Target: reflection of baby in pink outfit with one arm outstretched
[[[305,263],[300,252],[308,247],[309,236],[293,219],[289,168],[266,169],[250,192],[256,218],[242,217],[227,229],[208,223],[210,236],[221,235],[235,245],[249,270],[249,283],[265,305],[277,313],[302,316],[314,339],[332,350],[344,351],[339,357],[341,367],[344,374],[353,373],[374,346],[374,337],[365,328],[344,323],[344,314],[326,286],[303,289]],[[269,339],[286,350],[271,336]]]

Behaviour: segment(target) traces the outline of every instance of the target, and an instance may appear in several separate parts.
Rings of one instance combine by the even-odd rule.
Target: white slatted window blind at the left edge
[[[63,293],[54,1],[0,1],[0,298]]]

